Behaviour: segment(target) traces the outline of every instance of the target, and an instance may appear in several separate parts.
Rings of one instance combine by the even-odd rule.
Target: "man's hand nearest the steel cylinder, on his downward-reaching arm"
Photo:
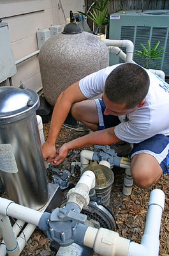
[[[55,145],[52,145],[48,143],[48,141],[45,141],[41,149],[44,161],[47,161],[48,164],[52,163],[52,161],[54,161],[54,157],[56,156]]]

